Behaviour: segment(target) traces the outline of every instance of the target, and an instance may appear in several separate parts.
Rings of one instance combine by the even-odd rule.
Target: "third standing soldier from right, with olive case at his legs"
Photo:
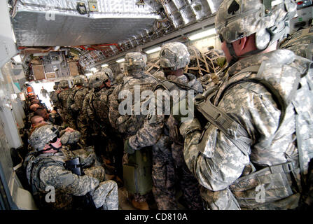
[[[145,71],[146,55],[140,52],[130,52],[125,55],[125,69],[127,69],[127,76],[125,76],[113,91],[109,119],[113,128],[118,130],[123,135],[124,139],[136,134],[139,128],[144,124],[143,115],[121,115],[119,105],[123,101],[118,97],[122,91],[127,91],[132,96],[132,107],[134,107],[135,99],[134,92],[136,87],[140,87],[139,92],[144,90],[153,90],[153,87],[158,82],[157,78]],[[141,101],[141,102],[140,102]],[[142,104],[144,99],[139,99]],[[138,103],[138,102],[137,102]],[[123,156],[123,172],[125,188],[132,199],[132,205],[137,209],[147,210],[148,207],[148,193],[151,192],[151,150],[150,148],[142,148],[138,153],[132,155],[124,153]],[[142,175],[137,175],[137,179],[133,179],[134,172]],[[135,189],[135,184],[137,188]]]

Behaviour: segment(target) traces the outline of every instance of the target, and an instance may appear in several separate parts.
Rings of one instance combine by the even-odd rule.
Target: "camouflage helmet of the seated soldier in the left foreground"
[[[43,151],[46,144],[56,141],[59,137],[59,130],[52,125],[44,125],[37,127],[36,130],[29,137],[29,144],[36,151]]]

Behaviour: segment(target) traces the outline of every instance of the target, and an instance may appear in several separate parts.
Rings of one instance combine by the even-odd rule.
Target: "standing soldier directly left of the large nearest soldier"
[[[167,110],[162,97],[158,92],[165,92],[165,102],[171,101],[169,91],[194,90],[203,92],[202,85],[190,73],[183,73],[189,63],[189,52],[186,45],[179,42],[166,43],[160,50],[160,66],[166,80],[155,87],[155,102],[162,111]],[[174,98],[174,97],[173,97]],[[172,99],[176,104],[177,99]],[[178,123],[172,115],[157,115],[155,110],[149,114],[143,127],[137,134],[129,137],[125,142],[125,150],[133,153],[134,150],[146,146],[153,146],[153,195],[158,209],[179,209],[176,202],[176,183],[179,183],[183,192],[183,203],[188,209],[202,209],[197,180],[188,170],[183,161],[183,139],[179,135]]]

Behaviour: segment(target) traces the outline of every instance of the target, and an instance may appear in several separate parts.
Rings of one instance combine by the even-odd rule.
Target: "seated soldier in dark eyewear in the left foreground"
[[[102,167],[84,168],[85,175],[74,174],[64,168],[72,155],[62,150],[61,140],[53,126],[38,127],[29,141],[36,152],[27,156],[27,179],[42,209],[73,209],[74,196],[83,195],[88,195],[94,208],[118,209],[118,186],[114,181],[103,181],[104,175],[97,171]],[[79,153],[76,156],[81,159],[83,167],[89,167],[95,158],[92,153],[87,157]],[[45,202],[48,187],[55,188],[55,202]]]

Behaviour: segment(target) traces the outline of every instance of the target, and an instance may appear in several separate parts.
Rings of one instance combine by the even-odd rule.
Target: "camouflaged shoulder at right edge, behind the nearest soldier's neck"
[[[313,60],[313,27],[294,32],[279,43],[279,48],[291,50],[295,55]]]

